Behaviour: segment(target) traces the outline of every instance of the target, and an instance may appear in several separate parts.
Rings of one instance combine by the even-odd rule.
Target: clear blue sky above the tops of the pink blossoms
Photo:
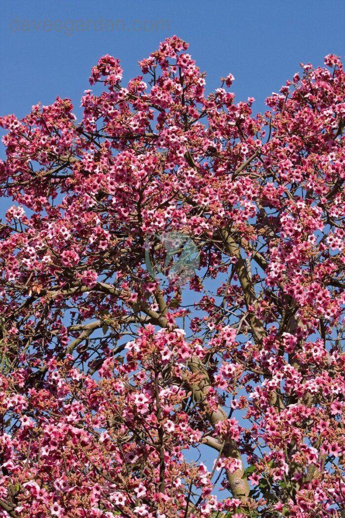
[[[299,62],[345,53],[340,0],[2,0],[1,10],[0,113],[19,117],[57,95],[71,98],[79,116],[101,55],[121,59],[129,79],[139,73],[137,61],[172,34],[190,43],[208,91],[231,72],[237,99],[255,97],[256,111]]]

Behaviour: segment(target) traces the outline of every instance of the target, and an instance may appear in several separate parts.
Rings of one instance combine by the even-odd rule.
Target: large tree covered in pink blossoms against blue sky
[[[342,65],[254,116],[187,47],[0,119],[1,516],[342,515]]]

